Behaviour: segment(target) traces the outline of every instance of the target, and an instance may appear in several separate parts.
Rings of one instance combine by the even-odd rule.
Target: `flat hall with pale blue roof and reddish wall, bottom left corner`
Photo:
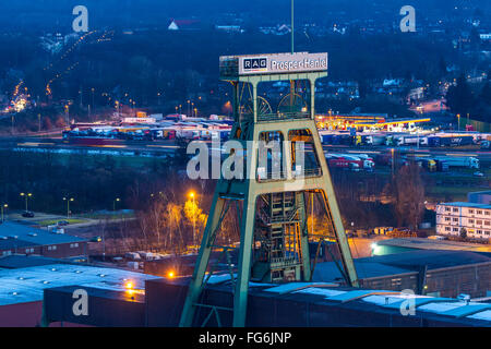
[[[47,288],[77,285],[77,288],[122,291],[128,280],[133,287],[143,288],[144,280],[156,277],[116,268],[63,263],[58,258],[26,255],[0,257],[0,327],[40,325],[43,294]],[[111,326],[118,325],[116,320]],[[60,325],[70,324],[51,324]]]

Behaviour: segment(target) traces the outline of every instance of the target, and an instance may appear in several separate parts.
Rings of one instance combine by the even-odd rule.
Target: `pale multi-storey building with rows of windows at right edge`
[[[476,203],[441,203],[436,205],[436,233],[468,238],[491,238],[491,205]]]

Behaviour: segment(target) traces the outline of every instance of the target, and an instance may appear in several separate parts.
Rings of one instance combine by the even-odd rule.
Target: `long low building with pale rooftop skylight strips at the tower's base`
[[[212,302],[213,305],[225,306],[231,300],[231,297],[225,296],[224,292],[232,293],[232,285],[227,275],[217,275],[218,278],[220,276],[223,276],[224,280],[208,285],[207,294],[208,302]],[[160,285],[176,285],[176,282],[179,282],[180,285],[185,285],[187,278],[175,280],[164,278],[148,281],[148,284],[154,282]],[[153,291],[163,292],[165,288],[155,288]],[[217,292],[216,296],[214,296],[214,292]],[[250,282],[249,294],[253,301],[251,302],[252,309],[248,310],[248,312],[250,311],[251,314],[259,312],[254,321],[259,321],[261,323],[260,326],[263,326],[261,311],[266,306],[265,304],[276,304],[272,305],[272,309],[276,309],[275,306],[282,304],[283,310],[279,314],[272,315],[276,311],[272,310],[270,313],[266,310],[267,314],[264,316],[272,316],[276,321],[283,316],[283,320],[289,322],[291,326],[304,326],[308,317],[318,322],[327,318],[331,321],[327,325],[331,326],[333,324],[337,324],[337,326],[356,326],[370,322],[372,326],[388,326],[388,324],[383,324],[384,318],[391,318],[394,321],[393,325],[395,325],[395,317],[390,315],[400,316],[400,310],[407,309],[406,306],[410,303],[414,304],[416,310],[416,316],[412,316],[416,322],[407,322],[406,326],[424,326],[421,322],[423,318],[431,318],[434,321],[434,324],[440,324],[440,326],[446,323],[491,326],[491,304],[474,300],[466,302],[452,298],[419,296],[403,291],[333,287],[333,285],[326,282],[288,282],[283,285]],[[306,306],[306,303],[314,306]],[[310,313],[315,315],[311,316]],[[321,314],[323,313],[326,313],[327,316],[322,317]],[[298,315],[298,317],[295,317],[294,314]],[[356,314],[360,314],[359,318]],[[285,317],[289,318],[286,320]],[[321,322],[315,324],[307,321],[307,324],[309,326],[325,325]]]

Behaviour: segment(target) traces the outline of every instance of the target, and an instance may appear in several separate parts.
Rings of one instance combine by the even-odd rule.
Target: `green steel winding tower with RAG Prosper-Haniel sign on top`
[[[233,312],[233,326],[246,326],[249,281],[289,282],[310,281],[312,256],[309,252],[307,226],[308,194],[315,194],[324,206],[339,250],[342,273],[346,284],[358,286],[348,241],[342,224],[331,176],[314,119],[315,81],[327,76],[327,53],[277,53],[220,57],[220,79],[233,87],[235,123],[231,140],[247,148],[248,141],[282,142],[282,170],[272,173],[260,167],[259,142],[248,152],[249,172],[244,179],[220,179],[217,183],[209,216],[203,233],[194,273],[181,314],[180,326],[195,325],[196,309],[208,309],[209,318],[219,311]],[[261,83],[289,82],[308,93],[301,101],[300,93],[291,87],[277,110],[273,110],[258,93]],[[296,85],[297,84],[297,85]],[[247,94],[249,92],[249,94]],[[249,98],[246,97],[249,95]],[[300,101],[299,101],[300,100]],[[249,103],[249,106],[248,106]],[[297,142],[310,144],[310,161],[299,168],[296,163]],[[301,171],[301,176],[298,170]],[[249,176],[248,176],[249,174]],[[307,196],[308,197],[308,196]],[[240,221],[240,251],[237,278],[231,273],[233,306],[217,309],[204,304],[200,296],[208,280],[208,261],[224,216],[235,203]],[[311,237],[312,238],[312,237]]]

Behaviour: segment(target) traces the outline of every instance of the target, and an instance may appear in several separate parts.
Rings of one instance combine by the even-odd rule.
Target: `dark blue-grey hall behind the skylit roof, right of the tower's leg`
[[[368,289],[456,298],[491,296],[491,256],[466,251],[420,250],[355,260],[360,285]],[[335,280],[335,267],[321,264],[314,280]]]

